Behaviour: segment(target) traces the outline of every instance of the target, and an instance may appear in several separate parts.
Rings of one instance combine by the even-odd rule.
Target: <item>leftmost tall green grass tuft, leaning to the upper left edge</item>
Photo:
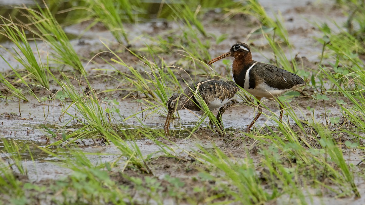
[[[39,84],[46,89],[49,89],[48,65],[44,65],[41,62],[37,42],[34,40],[39,63],[28,42],[24,29],[16,25],[11,19],[6,19],[3,16],[0,16],[0,18],[3,21],[3,24],[0,26],[4,29],[3,31],[0,31],[0,34],[6,36],[20,51],[19,53],[19,51],[13,47],[13,50],[16,53],[16,55],[13,55],[14,58],[31,74],[31,78],[38,81]]]

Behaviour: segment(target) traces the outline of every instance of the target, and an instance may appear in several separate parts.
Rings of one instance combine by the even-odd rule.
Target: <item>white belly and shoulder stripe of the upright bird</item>
[[[290,89],[279,90],[279,89],[270,87],[268,84],[266,84],[265,81],[261,84],[256,85],[254,89],[249,88],[250,87],[250,71],[253,68],[253,66],[255,66],[255,65],[256,65],[256,63],[253,63],[249,67],[249,69],[247,69],[247,72],[245,75],[245,85],[243,86],[243,89],[245,89],[251,95],[257,96],[257,97],[273,98],[273,97],[278,97],[281,94],[290,90]],[[285,80],[285,78],[284,78],[284,80]]]

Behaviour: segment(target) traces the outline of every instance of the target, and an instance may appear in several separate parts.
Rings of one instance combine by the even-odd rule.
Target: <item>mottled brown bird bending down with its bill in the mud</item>
[[[174,94],[166,102],[168,108],[164,127],[166,135],[168,136],[169,134],[170,118],[174,112],[183,108],[192,111],[201,111],[201,105],[199,104],[199,100],[196,99],[196,94],[200,94],[210,111],[221,107],[216,118],[222,128],[222,114],[227,108],[237,102],[232,98],[238,90],[239,87],[232,81],[210,79],[190,84],[183,93]]]

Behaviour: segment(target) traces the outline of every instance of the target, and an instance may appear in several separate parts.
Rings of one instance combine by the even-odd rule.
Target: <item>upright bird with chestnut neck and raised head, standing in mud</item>
[[[233,57],[233,78],[237,85],[255,96],[258,100],[258,113],[246,128],[249,132],[252,125],[260,117],[262,97],[278,97],[288,90],[306,85],[306,82],[294,73],[252,59],[250,47],[245,43],[235,43],[230,51],[208,62],[208,65],[226,57]],[[283,119],[283,108],[280,107],[280,122]]]

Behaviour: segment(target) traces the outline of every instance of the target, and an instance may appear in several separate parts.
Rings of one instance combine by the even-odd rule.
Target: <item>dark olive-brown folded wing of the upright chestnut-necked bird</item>
[[[253,75],[254,78],[259,78],[257,79],[258,81],[260,81],[260,79],[264,79],[266,84],[277,89],[291,89],[293,87],[303,86],[306,84],[301,77],[294,73],[273,65],[259,62],[257,62],[251,70],[250,75]]]

